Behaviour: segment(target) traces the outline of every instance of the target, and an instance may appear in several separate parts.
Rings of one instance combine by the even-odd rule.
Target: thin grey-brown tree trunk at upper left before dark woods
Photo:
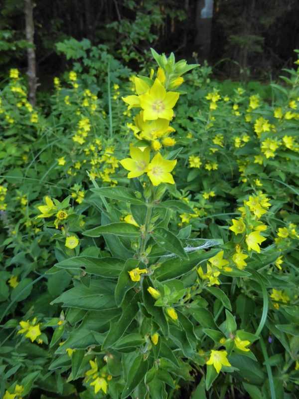
[[[25,24],[26,24],[26,39],[30,44],[27,48],[28,59],[28,85],[29,85],[29,102],[35,105],[35,94],[37,86],[36,78],[36,63],[35,63],[35,49],[34,49],[34,23],[33,23],[33,3],[32,0],[25,0]]]

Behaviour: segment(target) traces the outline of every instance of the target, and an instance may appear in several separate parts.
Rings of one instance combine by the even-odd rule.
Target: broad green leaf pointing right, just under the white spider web
[[[159,281],[180,277],[192,270],[199,262],[211,258],[217,252],[219,252],[219,249],[212,249],[208,252],[200,249],[194,252],[189,252],[188,260],[171,257],[155,270],[154,276]]]

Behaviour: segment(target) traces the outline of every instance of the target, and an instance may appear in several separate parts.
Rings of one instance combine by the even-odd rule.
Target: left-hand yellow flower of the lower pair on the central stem
[[[141,151],[140,148],[130,146],[130,155],[131,158],[123,159],[120,163],[121,165],[130,171],[128,173],[128,178],[137,178],[143,175],[148,171],[149,166],[149,147],[147,147],[144,151]]]

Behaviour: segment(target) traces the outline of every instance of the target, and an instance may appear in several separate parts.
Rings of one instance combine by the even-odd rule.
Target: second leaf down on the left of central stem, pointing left
[[[113,234],[121,237],[135,238],[140,236],[140,229],[134,226],[134,224],[115,222],[83,231],[82,234],[88,237],[100,237],[103,234]]]

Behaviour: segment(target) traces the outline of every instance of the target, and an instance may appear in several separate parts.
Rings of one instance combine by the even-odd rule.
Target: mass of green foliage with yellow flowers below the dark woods
[[[17,70],[1,90],[0,397],[296,399],[299,68],[242,86],[57,49],[34,109]]]

